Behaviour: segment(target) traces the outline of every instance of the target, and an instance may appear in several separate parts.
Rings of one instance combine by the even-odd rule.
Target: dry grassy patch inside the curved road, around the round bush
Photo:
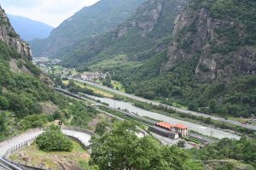
[[[61,166],[68,166],[73,169],[94,170],[89,166],[90,154],[84,150],[78,141],[71,140],[73,150],[70,151],[44,151],[39,150],[38,144],[19,150],[10,156],[10,159],[29,166],[42,167],[44,169],[60,169]]]

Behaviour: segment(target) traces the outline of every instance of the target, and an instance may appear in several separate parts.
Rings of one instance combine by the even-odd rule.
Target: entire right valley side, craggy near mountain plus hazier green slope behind
[[[128,93],[221,116],[256,113],[256,3],[148,0],[63,65],[115,72]]]

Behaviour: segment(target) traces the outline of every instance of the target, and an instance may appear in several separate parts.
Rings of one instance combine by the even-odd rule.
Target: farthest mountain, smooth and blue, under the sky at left
[[[52,26],[22,16],[8,14],[8,17],[15,31],[17,31],[20,37],[25,41],[31,41],[34,38],[48,37],[50,31],[54,29]]]

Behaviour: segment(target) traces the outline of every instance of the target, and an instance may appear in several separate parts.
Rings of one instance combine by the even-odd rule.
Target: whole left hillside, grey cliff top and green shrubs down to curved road
[[[44,127],[55,119],[83,119],[96,112],[49,88],[51,82],[31,63],[31,51],[20,40],[0,8],[0,141],[32,127]],[[87,113],[87,114],[84,114]],[[72,125],[78,122],[71,120]]]

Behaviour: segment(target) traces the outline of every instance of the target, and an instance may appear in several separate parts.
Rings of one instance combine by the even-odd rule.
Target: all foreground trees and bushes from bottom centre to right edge
[[[221,139],[216,144],[207,144],[205,148],[181,150],[177,146],[163,146],[150,136],[137,138],[134,122],[115,122],[110,130],[105,125],[103,127],[103,133],[91,139],[90,165],[99,169],[110,166],[114,169],[149,170],[255,168],[255,139]],[[183,142],[178,146],[182,148]]]

